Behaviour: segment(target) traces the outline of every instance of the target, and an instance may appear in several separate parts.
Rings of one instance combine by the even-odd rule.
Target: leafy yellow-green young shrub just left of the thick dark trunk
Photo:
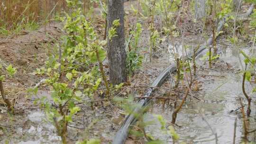
[[[62,143],[67,144],[67,126],[80,111],[77,103],[92,98],[101,83],[97,62],[106,57],[91,23],[82,15],[80,0],[66,0],[70,13],[61,18],[66,35],[62,45],[55,47],[55,53],[46,62],[46,67],[37,69],[37,74],[46,75],[46,84],[51,89],[51,98],[41,99],[46,107],[47,119],[55,126]],[[102,72],[104,73],[104,72]],[[52,104],[50,104],[52,103]],[[90,142],[90,143],[89,143]],[[97,144],[84,141],[81,144]]]

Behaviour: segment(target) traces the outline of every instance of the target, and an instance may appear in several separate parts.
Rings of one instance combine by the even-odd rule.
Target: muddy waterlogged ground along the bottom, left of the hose
[[[39,90],[36,96],[31,97],[30,103],[40,97],[51,101],[49,91]],[[90,105],[81,105],[80,113],[68,125],[68,144],[75,144],[84,135],[100,138],[102,144],[108,144],[112,140],[122,117],[118,119],[118,110],[113,105],[99,104],[95,103],[94,110],[91,110]],[[47,119],[44,108],[31,105],[22,115],[10,117],[1,114],[0,121],[0,144],[61,144],[61,137]],[[90,133],[85,134],[87,128]]]

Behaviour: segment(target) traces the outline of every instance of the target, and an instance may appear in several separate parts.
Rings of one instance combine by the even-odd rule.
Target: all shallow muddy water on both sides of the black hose
[[[143,33],[141,46],[146,47],[148,31],[145,30]],[[177,44],[178,52],[181,53],[179,40],[175,43]],[[213,133],[217,133],[218,144],[232,144],[235,118],[238,118],[236,144],[240,144],[243,140],[244,132],[241,112],[239,109],[236,110],[240,107],[239,98],[244,99],[244,104],[247,103],[242,93],[242,76],[239,73],[239,70],[244,65],[239,63],[238,56],[240,56],[241,62],[243,62],[243,56],[239,54],[239,50],[226,43],[218,43],[220,58],[213,62],[212,69],[208,68],[207,62],[200,60],[200,57],[203,57],[207,50],[198,57],[198,75],[196,77],[197,82],[195,82],[198,85],[198,91],[193,91],[195,87],[193,86],[191,95],[200,100],[191,96],[188,97],[182,110],[178,113],[175,130],[180,137],[179,142],[185,142],[186,144],[215,144]],[[185,44],[191,47],[197,46],[198,37],[186,37]],[[165,41],[161,44],[161,49],[154,53],[151,63],[149,62],[148,53],[144,54],[143,67],[131,78],[131,86],[122,90],[123,96],[127,96],[128,93],[132,93],[134,97],[143,95],[147,86],[159,72],[170,63],[174,63],[170,47],[172,47],[170,42]],[[249,47],[239,47],[243,47],[247,54],[250,53]],[[168,82],[164,83],[163,89],[155,91],[154,95],[165,95],[164,93],[169,89]],[[252,85],[255,86],[255,83],[246,84],[248,93]],[[184,91],[182,86],[179,86],[178,90]],[[176,95],[180,99],[183,97],[183,93],[176,93]],[[10,144],[61,144],[61,139],[56,134],[55,127],[46,120],[44,109],[38,108],[33,104],[35,99],[42,96],[51,99],[46,88],[41,88],[37,96],[20,99],[17,107],[25,108],[23,114],[11,117],[1,111],[0,144],[4,144],[6,141]],[[252,99],[255,99],[255,97],[255,95],[252,95]],[[256,128],[255,105],[253,100],[252,113],[251,117],[249,117],[251,130]],[[82,110],[74,117],[73,123],[68,127],[69,143],[74,144],[83,135],[87,135],[90,138],[99,138],[102,144],[111,143],[125,117],[123,112],[120,111],[121,108],[116,107],[110,101],[95,103],[93,110],[90,104],[83,104],[81,108]],[[145,114],[145,122],[151,122],[150,125],[146,126],[146,133],[153,135],[155,139],[164,141],[166,144],[172,144],[172,138],[161,131],[161,126],[155,118],[155,114],[162,115],[166,120],[166,124],[169,125],[172,120],[173,110],[173,102],[170,102],[170,105],[165,104],[165,108],[163,108],[163,103],[156,100],[153,107]],[[232,110],[236,111],[230,113]],[[250,141],[256,141],[255,138],[256,136],[253,133],[248,136]],[[131,140],[131,137],[129,137],[129,143],[143,143],[143,140],[137,141],[133,138]]]

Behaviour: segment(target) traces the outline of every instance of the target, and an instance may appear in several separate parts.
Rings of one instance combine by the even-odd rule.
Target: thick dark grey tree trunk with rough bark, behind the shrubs
[[[114,20],[119,19],[116,27],[117,36],[108,38],[108,58],[110,64],[110,81],[113,85],[126,82],[126,52],[124,29],[124,0],[109,0],[108,2],[108,31]]]

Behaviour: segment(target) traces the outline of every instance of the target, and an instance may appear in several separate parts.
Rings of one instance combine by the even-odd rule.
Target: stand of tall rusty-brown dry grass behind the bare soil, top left
[[[86,14],[93,5],[91,0],[81,1]],[[0,0],[0,35],[46,25],[62,11],[68,11],[66,0]]]

